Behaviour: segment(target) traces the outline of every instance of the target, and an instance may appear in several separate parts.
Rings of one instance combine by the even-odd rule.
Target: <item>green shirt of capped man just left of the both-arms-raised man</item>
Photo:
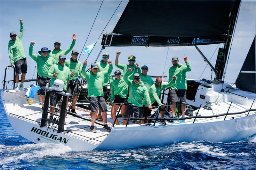
[[[65,61],[65,66],[67,66],[72,72],[74,69],[75,75],[70,78],[70,80],[76,80],[78,78],[78,73],[82,72],[82,63],[80,61],[74,61],[72,58]],[[84,79],[84,76],[81,74],[80,77]]]

